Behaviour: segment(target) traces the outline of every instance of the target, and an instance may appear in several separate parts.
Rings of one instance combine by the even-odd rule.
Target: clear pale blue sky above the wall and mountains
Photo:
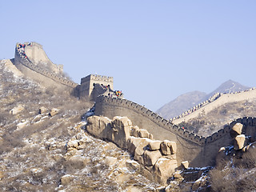
[[[38,42],[74,82],[114,77],[115,90],[158,110],[232,79],[256,86],[256,1],[0,0],[0,59]]]

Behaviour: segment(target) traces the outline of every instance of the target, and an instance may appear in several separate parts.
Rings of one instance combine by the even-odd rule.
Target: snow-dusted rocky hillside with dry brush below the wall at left
[[[78,101],[65,90],[45,89],[18,75],[9,62],[0,61],[1,191],[158,187],[142,176],[130,154],[86,133],[82,114],[93,103]]]

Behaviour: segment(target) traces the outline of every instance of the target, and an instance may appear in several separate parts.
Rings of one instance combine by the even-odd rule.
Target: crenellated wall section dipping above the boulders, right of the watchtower
[[[209,137],[201,137],[174,125],[146,107],[121,98],[99,96],[95,102],[95,115],[108,118],[126,116],[134,126],[146,129],[157,140],[170,140],[177,143],[178,163],[188,160],[191,166],[213,166],[218,150],[230,146],[230,129],[236,122],[242,122],[247,132],[254,134],[256,118],[242,118],[224,126]]]

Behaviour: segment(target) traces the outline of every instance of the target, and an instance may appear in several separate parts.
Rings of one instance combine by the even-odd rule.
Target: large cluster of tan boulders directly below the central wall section
[[[91,116],[87,118],[87,131],[97,138],[108,139],[122,149],[126,149],[134,156],[139,164],[144,166],[145,173],[150,172],[156,182],[166,183],[178,167],[176,160],[176,142],[154,141],[153,135],[147,130],[133,126],[127,117]],[[73,142],[67,144],[69,148],[77,148]],[[107,159],[112,164],[115,159]],[[134,169],[137,165],[131,164]]]

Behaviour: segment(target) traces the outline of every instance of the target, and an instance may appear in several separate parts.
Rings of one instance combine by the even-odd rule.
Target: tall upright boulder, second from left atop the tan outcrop
[[[127,117],[114,117],[112,121],[113,138],[112,141],[121,148],[126,148],[128,138],[130,138],[130,130],[132,122]]]

